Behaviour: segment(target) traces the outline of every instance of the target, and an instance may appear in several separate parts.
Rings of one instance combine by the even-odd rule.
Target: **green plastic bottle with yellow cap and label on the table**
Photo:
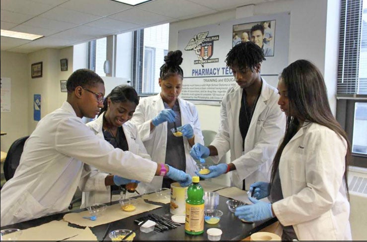
[[[187,189],[185,232],[189,235],[204,233],[204,189],[199,180],[199,176],[193,176]]]

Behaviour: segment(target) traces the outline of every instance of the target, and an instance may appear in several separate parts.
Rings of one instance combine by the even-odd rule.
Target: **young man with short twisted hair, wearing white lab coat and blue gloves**
[[[232,185],[248,190],[257,180],[269,181],[269,168],[286,128],[278,91],[260,76],[264,53],[252,42],[234,46],[225,60],[238,85],[228,88],[220,106],[220,127],[209,147],[195,144],[191,156],[220,159],[230,150],[229,164],[210,166],[212,178],[231,172]]]

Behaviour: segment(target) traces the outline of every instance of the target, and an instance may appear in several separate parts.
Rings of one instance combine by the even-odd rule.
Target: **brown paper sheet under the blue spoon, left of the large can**
[[[137,201],[137,208],[131,212],[126,212],[122,210],[120,204],[118,203],[108,206],[107,209],[104,211],[104,214],[102,216],[98,216],[95,221],[83,219],[84,216],[90,216],[88,211],[83,211],[80,213],[68,213],[64,215],[64,220],[79,226],[95,227],[161,207],[158,205],[146,203],[144,202],[143,198],[137,198]]]

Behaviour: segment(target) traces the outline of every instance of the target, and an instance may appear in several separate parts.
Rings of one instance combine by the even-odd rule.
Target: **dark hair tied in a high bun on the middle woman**
[[[166,80],[173,75],[179,75],[183,79],[183,71],[180,67],[182,60],[182,52],[180,50],[168,52],[164,57],[165,63],[160,67],[159,78]]]

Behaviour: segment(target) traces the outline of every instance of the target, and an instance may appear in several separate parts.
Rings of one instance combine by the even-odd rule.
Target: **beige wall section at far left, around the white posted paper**
[[[1,151],[7,152],[10,145],[18,138],[29,135],[28,131],[28,79],[30,65],[26,54],[1,51],[1,77],[11,79],[10,112],[1,112]]]

